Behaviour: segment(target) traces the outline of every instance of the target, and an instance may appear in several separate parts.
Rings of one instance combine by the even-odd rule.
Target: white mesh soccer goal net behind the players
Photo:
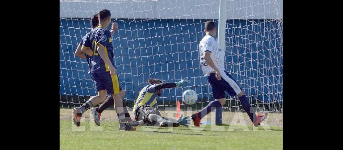
[[[225,68],[247,94],[250,104],[283,113],[283,18],[280,0],[227,0]],[[219,0],[60,0],[60,108],[79,107],[96,95],[85,59],[74,56],[91,31],[90,17],[111,12],[119,25],[112,37],[123,102],[132,107],[149,78],[163,82],[188,79],[184,88],[163,90],[158,109],[182,103],[182,92],[198,94],[193,109],[214,100],[200,66],[198,45],[206,21],[218,25]],[[108,28],[110,29],[110,27]],[[218,33],[217,33],[218,35]],[[224,111],[240,109],[227,97]],[[188,106],[187,106],[188,107]]]

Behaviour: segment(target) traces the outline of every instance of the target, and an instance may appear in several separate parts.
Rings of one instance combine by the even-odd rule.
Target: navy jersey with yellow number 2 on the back
[[[112,46],[112,39],[111,39],[111,32],[104,27],[96,27],[91,32],[90,35],[84,40],[83,43],[84,47],[88,47],[93,51],[93,56],[90,58],[91,60],[91,69],[90,72],[109,72],[108,65],[104,62],[104,60],[100,57],[97,47],[102,46],[112,65],[114,65],[113,60],[113,46]]]

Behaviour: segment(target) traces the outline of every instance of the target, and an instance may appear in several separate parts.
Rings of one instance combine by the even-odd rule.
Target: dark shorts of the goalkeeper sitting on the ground
[[[150,113],[156,114],[156,111],[154,110],[154,108],[148,105],[140,106],[136,109],[136,112],[134,113],[134,120],[135,121],[143,120],[145,125],[153,126],[156,124],[156,121],[147,120],[148,115]]]

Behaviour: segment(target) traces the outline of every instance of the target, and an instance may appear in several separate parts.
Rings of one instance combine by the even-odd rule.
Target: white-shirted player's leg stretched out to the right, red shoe
[[[253,122],[253,124],[256,126],[259,123],[261,123],[266,116],[256,116],[255,112],[252,110],[249,100],[246,97],[244,91],[242,88],[239,87],[237,84],[236,80],[228,74],[226,71],[221,71],[222,78],[224,79],[224,86],[225,91],[230,95],[230,96],[238,96],[238,99],[240,103],[242,104],[243,109],[247,112],[250,120]]]

